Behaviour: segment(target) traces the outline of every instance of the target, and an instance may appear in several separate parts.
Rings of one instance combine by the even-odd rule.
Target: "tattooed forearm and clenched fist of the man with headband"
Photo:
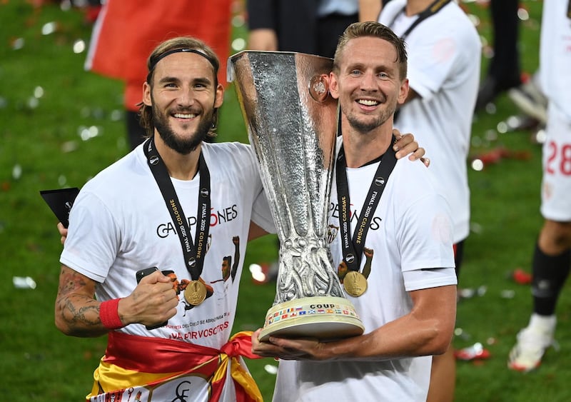
[[[101,323],[100,301],[95,300],[96,281],[62,265],[56,298],[56,327],[66,335],[94,337],[109,330]],[[118,303],[123,325],[156,326],[176,314],[176,291],[171,278],[160,271],[145,276],[129,296]]]

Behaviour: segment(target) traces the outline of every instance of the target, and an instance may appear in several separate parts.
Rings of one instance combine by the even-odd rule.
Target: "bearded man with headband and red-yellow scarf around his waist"
[[[258,163],[246,144],[203,142],[223,102],[208,46],[170,39],[147,66],[148,139],[91,179],[69,232],[60,226],[56,326],[70,336],[108,334],[88,401],[133,392],[145,401],[260,401],[241,359],[255,357],[251,333],[231,337],[246,254],[239,239],[273,231]],[[228,255],[239,256],[236,281],[208,297]]]

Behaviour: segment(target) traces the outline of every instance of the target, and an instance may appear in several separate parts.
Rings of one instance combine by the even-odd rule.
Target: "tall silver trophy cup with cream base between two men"
[[[327,241],[338,126],[329,94],[331,59],[241,51],[228,62],[280,240],[270,335],[344,338],[364,327],[344,297]]]

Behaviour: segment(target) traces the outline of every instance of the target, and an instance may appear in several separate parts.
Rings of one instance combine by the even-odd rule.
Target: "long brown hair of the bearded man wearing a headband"
[[[198,54],[208,60],[213,68],[214,86],[218,86],[218,69],[220,69],[220,61],[218,60],[216,53],[214,53],[210,47],[208,47],[203,41],[199,39],[192,38],[191,36],[178,36],[176,38],[163,41],[152,51],[151,55],[148,56],[148,74],[146,82],[149,86],[151,86],[151,89],[153,87],[153,78],[156,64],[169,54],[178,52]],[[140,102],[137,104],[137,106],[139,107],[139,123],[143,129],[145,129],[146,136],[152,136],[155,129],[153,122],[153,108],[152,106],[143,104],[143,102]],[[217,126],[218,108],[214,109],[213,123],[210,131],[208,131],[206,136],[207,139],[212,139],[216,136]]]

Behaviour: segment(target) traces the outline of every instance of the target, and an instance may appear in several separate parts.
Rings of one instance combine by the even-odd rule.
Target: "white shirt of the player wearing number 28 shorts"
[[[567,4],[563,0],[543,2],[540,80],[547,99],[571,121],[571,19]]]

